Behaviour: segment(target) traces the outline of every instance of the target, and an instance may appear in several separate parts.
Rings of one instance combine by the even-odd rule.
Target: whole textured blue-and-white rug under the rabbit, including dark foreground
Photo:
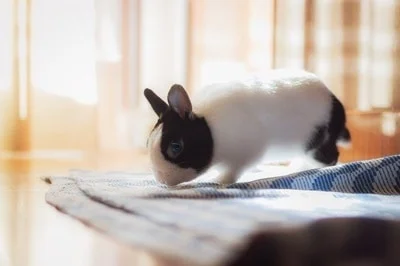
[[[46,178],[46,201],[187,265],[400,265],[400,155],[262,174],[167,188],[150,174],[73,171]]]

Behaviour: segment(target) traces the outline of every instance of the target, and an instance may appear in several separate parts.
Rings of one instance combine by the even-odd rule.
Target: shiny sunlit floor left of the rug
[[[1,266],[179,265],[109,239],[49,206],[48,185],[40,177],[71,168],[148,170],[145,158],[115,154],[107,160],[1,160]]]

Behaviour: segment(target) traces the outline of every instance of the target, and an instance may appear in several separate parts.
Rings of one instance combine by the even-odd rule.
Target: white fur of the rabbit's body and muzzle
[[[233,183],[257,162],[307,158],[304,146],[317,125],[326,124],[331,93],[312,73],[275,70],[248,80],[212,84],[192,100],[214,141],[211,165],[226,171],[221,183]],[[167,162],[160,151],[161,126],[151,137],[150,158],[157,179],[176,185],[196,178],[193,169]],[[316,164],[318,165],[318,164]]]

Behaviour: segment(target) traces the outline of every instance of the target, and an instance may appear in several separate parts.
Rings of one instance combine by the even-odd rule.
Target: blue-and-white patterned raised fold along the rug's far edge
[[[298,180],[296,184],[294,181]],[[309,184],[310,186],[308,186]],[[400,155],[312,169],[277,178],[235,183],[223,188],[215,183],[194,183],[150,193],[150,197],[233,198],[259,197],[260,189],[308,189],[345,193],[400,193]],[[179,192],[179,190],[185,191]],[[232,189],[228,191],[226,189]]]

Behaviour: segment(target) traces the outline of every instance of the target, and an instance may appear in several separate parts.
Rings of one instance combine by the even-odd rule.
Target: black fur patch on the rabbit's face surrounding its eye
[[[164,158],[181,168],[192,168],[198,173],[208,168],[213,156],[213,139],[206,120],[202,117],[188,116],[185,119],[168,110],[158,123],[162,123],[161,152]],[[172,141],[182,140],[183,151],[171,158],[168,147]]]

